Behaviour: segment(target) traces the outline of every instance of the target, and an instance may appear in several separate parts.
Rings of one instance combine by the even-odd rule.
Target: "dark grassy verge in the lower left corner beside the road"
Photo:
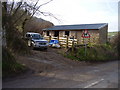
[[[26,68],[17,63],[14,55],[9,49],[2,48],[2,77],[8,77],[13,74],[19,74],[25,71]]]

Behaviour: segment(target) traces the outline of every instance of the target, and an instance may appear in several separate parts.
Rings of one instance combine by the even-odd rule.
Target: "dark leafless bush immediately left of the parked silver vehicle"
[[[30,53],[27,43],[21,38],[21,34],[17,30],[14,30],[14,28],[12,30],[9,29],[7,33],[7,48],[9,48],[11,52],[18,54]]]

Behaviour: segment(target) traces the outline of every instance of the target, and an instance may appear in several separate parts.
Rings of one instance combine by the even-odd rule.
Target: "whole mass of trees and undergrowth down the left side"
[[[45,16],[53,16],[49,12],[47,13],[39,10],[39,8],[51,1],[52,0],[39,5],[39,0],[34,3],[33,1],[30,1],[31,3],[23,2],[23,0],[19,2],[14,2],[14,0],[13,2],[9,0],[7,2],[0,2],[0,4],[2,4],[2,32],[4,42],[2,48],[3,77],[7,74],[10,75],[12,73],[22,72],[24,69],[22,65],[17,63],[17,60],[14,57],[16,54],[25,55],[30,52],[23,39],[25,33],[27,32],[27,27],[30,26],[28,24],[28,26],[25,27],[25,25],[34,18],[36,13]],[[38,30],[38,27],[36,30]]]

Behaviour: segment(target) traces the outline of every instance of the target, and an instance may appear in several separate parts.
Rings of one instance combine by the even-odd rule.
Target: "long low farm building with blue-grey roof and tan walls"
[[[83,33],[87,31],[90,38],[85,39],[82,37]],[[83,44],[84,40],[89,43],[104,44],[107,42],[108,24],[77,24],[77,25],[59,25],[52,26],[51,28],[43,29],[43,35],[47,37],[66,37],[77,40],[78,44]]]

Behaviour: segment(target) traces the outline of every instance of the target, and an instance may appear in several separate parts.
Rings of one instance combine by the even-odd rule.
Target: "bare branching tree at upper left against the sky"
[[[6,32],[6,40],[7,45],[9,44],[11,36],[14,36],[12,31],[16,30],[17,23],[22,21],[22,36],[25,34],[25,24],[29,21],[37,12],[44,16],[51,16],[57,19],[53,14],[49,12],[42,12],[39,9],[49,4],[51,1],[45,2],[43,4],[38,5],[39,0],[37,0],[34,4],[30,4],[29,2],[24,2],[21,0],[20,2],[3,2],[2,3],[2,12],[3,12],[3,30]],[[17,16],[17,13],[23,10],[21,15]]]

